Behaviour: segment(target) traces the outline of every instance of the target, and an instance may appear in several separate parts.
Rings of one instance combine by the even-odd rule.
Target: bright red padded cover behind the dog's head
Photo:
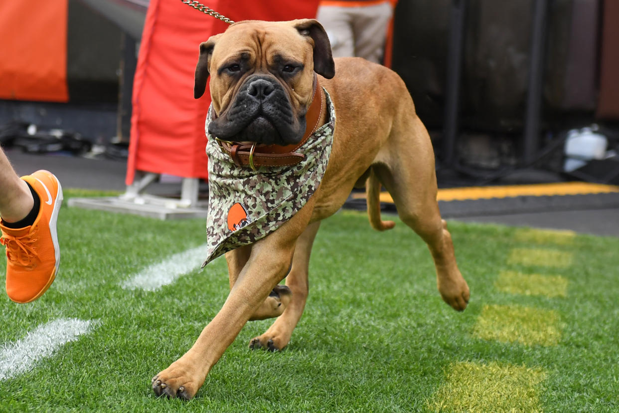
[[[314,18],[318,0],[210,0],[232,20]],[[136,170],[207,178],[204,121],[210,92],[193,98],[198,46],[227,24],[179,0],[150,0],[133,86],[126,184]]]

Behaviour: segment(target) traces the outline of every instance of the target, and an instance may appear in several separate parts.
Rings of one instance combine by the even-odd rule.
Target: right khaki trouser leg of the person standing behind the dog
[[[366,7],[350,7],[353,16],[355,56],[383,63],[387,25],[393,13],[389,1]]]

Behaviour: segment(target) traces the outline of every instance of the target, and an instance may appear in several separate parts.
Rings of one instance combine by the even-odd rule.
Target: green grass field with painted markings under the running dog
[[[451,222],[471,289],[457,313],[420,238],[358,212],[322,223],[286,349],[249,350],[272,321],[248,323],[195,399],[157,399],[150,378],[225,300],[225,261],[152,292],[123,283],[202,245],[204,225],[63,206],[50,290],[19,305],[0,287],[0,411],[619,411],[619,238]],[[90,324],[37,356],[57,320]]]

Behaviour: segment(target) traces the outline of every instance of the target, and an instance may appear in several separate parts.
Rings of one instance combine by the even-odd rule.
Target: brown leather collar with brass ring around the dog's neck
[[[318,92],[318,93],[317,93]],[[308,140],[318,128],[322,110],[324,108],[324,93],[322,92],[318,76],[314,73],[314,92],[305,115],[305,133],[298,144],[292,145],[264,145],[243,144],[241,142],[228,142],[217,139],[223,152],[230,155],[236,166],[249,166],[253,170],[257,167],[284,167],[297,165],[305,159],[305,155],[295,152]]]

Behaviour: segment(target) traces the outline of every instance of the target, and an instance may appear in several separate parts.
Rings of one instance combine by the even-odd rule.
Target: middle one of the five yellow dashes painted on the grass
[[[495,282],[495,287],[501,292],[510,294],[566,297],[568,280],[561,276],[501,271]]]

